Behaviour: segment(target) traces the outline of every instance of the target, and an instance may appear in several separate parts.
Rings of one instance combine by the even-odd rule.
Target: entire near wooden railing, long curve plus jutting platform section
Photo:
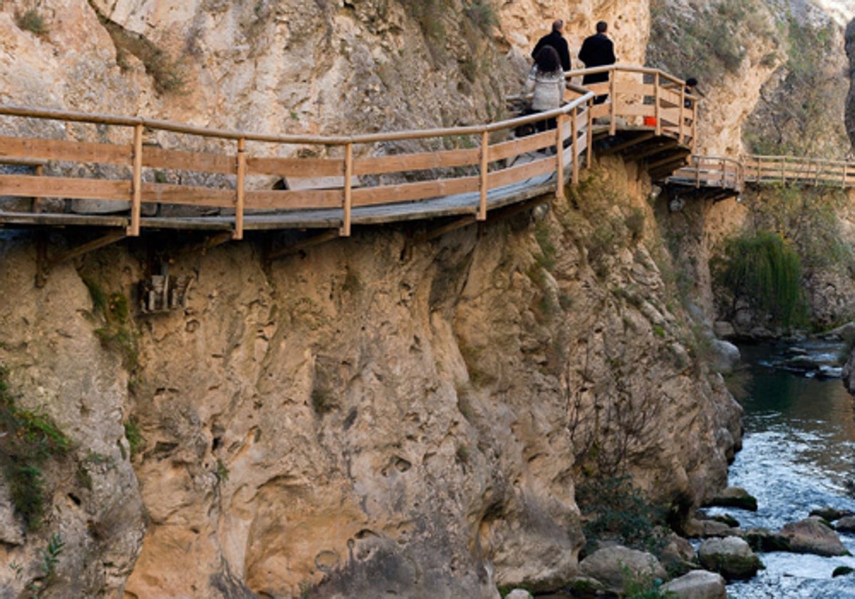
[[[575,84],[604,70],[607,83]],[[0,196],[36,199],[31,211],[39,214],[60,210],[45,200],[51,198],[72,203],[76,212],[126,211],[129,235],[163,226],[162,206],[198,215],[174,227],[201,227],[203,214],[215,212],[234,239],[245,228],[280,228],[283,221],[269,215],[295,211],[322,212],[318,222],[335,222],[347,235],[354,214],[369,208],[386,207],[388,216],[404,204],[475,197],[464,210],[484,220],[489,199],[503,188],[550,180],[560,196],[566,181],[578,180],[583,158],[591,163],[595,119],[608,118],[611,134],[646,128],[693,144],[696,109],[687,108],[691,97],[681,80],[622,65],[573,71],[568,79],[567,102],[557,110],[471,127],[353,136],[246,133],[0,105],[0,165],[18,165],[11,169],[18,172],[0,169]],[[593,105],[595,93],[609,101]],[[555,129],[513,134],[551,118]],[[38,168],[25,173],[21,165]],[[8,218],[9,211],[2,214]],[[378,213],[373,222],[383,219]],[[301,226],[313,226],[307,222]]]

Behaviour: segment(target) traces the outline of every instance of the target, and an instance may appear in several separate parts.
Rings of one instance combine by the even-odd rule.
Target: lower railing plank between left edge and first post
[[[0,175],[0,195],[32,198],[131,199],[131,181]]]

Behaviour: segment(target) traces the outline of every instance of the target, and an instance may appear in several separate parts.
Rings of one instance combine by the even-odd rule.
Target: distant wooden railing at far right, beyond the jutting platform
[[[795,156],[747,155],[736,160],[693,155],[691,163],[676,170],[667,181],[736,191],[746,183],[848,188],[855,187],[855,163]]]

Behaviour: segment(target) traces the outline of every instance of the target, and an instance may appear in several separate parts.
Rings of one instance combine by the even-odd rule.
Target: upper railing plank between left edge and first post
[[[56,160],[72,163],[131,165],[130,144],[95,144],[66,139],[0,137],[0,157]]]

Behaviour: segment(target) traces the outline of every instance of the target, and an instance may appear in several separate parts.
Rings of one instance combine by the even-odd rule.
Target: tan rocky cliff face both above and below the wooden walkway
[[[646,2],[485,6],[57,1],[33,31],[8,2],[0,100],[368,132],[501,114],[556,17],[574,56],[605,18],[619,60],[644,62]],[[758,95],[742,85],[739,115]],[[736,129],[705,139],[733,148]],[[648,192],[610,162],[545,215],[477,231],[357,230],[273,264],[264,240],[152,236],[41,289],[32,237],[3,233],[0,364],[75,442],[45,468],[40,531],[0,487],[3,592],[38,580],[58,533],[56,596],[492,597],[575,572],[584,476],[625,469],[700,501],[725,482],[739,407],[656,226],[681,216]],[[705,256],[698,216],[684,225]],[[135,313],[152,262],[192,276],[185,310]]]

